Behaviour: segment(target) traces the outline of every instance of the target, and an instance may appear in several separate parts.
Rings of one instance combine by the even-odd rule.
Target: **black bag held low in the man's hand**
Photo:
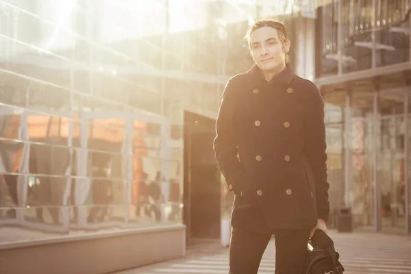
[[[304,274],[343,274],[339,258],[333,240],[321,229],[316,229],[308,242]]]

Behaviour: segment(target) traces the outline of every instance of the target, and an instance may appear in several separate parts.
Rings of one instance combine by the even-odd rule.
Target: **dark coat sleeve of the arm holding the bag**
[[[324,101],[319,89],[312,84],[308,115],[306,116],[305,150],[315,182],[316,208],[319,219],[328,221],[329,183],[327,182],[327,142],[325,139]]]

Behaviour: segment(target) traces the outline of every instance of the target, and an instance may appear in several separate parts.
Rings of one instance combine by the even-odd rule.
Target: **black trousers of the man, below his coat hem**
[[[310,229],[273,231],[275,274],[301,274],[306,260]],[[229,246],[229,274],[256,274],[271,234],[233,227]]]

